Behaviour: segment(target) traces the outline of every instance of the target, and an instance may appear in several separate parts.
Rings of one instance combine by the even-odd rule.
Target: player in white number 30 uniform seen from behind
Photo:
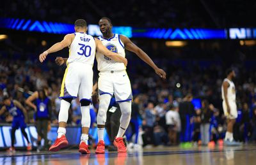
[[[90,127],[90,103],[93,87],[93,62],[95,59],[95,51],[105,54],[106,57],[116,61],[124,62],[127,60],[114,52],[109,51],[102,45],[99,39],[94,39],[86,34],[86,21],[83,19],[76,20],[75,33],[67,34],[64,39],[52,45],[51,48],[40,54],[40,62],[43,62],[48,54],[69,47],[69,57],[67,60],[67,69],[61,84],[60,98],[61,107],[59,113],[58,137],[55,143],[49,148],[50,151],[58,151],[60,148],[66,147],[68,141],[65,137],[66,125],[68,120],[68,109],[72,99],[79,97],[81,103],[81,125],[82,135],[79,145],[79,152],[89,154],[88,150],[88,132]]]

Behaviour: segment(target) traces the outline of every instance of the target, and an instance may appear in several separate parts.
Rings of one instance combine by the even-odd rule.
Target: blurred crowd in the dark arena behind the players
[[[166,70],[166,80],[161,80],[150,67],[141,64],[138,59],[132,59],[132,67],[127,69],[132,84],[133,104],[138,107],[138,113],[133,114],[132,118],[139,121],[143,145],[177,145],[191,141],[207,145],[209,140],[217,142],[222,139],[227,127],[220,94],[225,68],[214,61],[208,61],[207,66],[204,61],[179,61],[184,65],[172,62],[156,60],[157,65]],[[58,124],[58,96],[64,69],[65,66],[57,66],[50,60],[40,64],[36,58],[25,61],[1,58],[0,103],[5,94],[17,99],[28,110],[29,123],[33,123],[35,111],[25,101],[36,90],[47,89],[47,95],[52,102],[51,123]],[[239,141],[255,141],[255,73],[243,66],[234,66],[234,69],[238,75],[235,83],[239,109],[234,137]],[[96,71],[95,75],[97,76]],[[92,100],[91,109],[97,113],[97,95]],[[93,117],[95,126],[96,117]],[[1,123],[11,121],[12,117],[8,112],[0,118]],[[77,100],[72,101],[68,124],[81,124]]]

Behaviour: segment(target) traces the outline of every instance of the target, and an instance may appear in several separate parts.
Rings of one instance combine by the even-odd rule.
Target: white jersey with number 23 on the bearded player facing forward
[[[124,43],[122,43],[119,34],[114,34],[113,37],[106,39],[99,37],[102,44],[108,48],[111,52],[115,52],[122,57],[125,57],[125,50],[124,50]],[[104,54],[100,54],[99,52],[96,53],[96,59],[98,64],[98,70],[100,72],[104,71],[123,71],[126,69],[124,63],[122,62],[115,62],[109,57],[106,57]]]

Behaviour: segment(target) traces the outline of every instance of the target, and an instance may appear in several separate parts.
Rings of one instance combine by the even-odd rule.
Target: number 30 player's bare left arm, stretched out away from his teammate
[[[62,50],[63,48],[68,47],[72,43],[72,40],[74,39],[74,37],[75,37],[74,34],[67,34],[61,42],[55,43],[54,45],[52,45],[51,48],[49,48],[44,53],[39,55],[40,62],[43,62],[48,54],[51,54],[53,52],[58,52],[59,50]]]

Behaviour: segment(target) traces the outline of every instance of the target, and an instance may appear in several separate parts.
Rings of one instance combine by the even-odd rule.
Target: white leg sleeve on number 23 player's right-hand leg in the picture
[[[122,112],[122,115],[120,118],[120,127],[127,129],[127,127],[129,126],[129,122],[131,120],[132,102],[125,101],[125,102],[119,103],[119,106]]]

